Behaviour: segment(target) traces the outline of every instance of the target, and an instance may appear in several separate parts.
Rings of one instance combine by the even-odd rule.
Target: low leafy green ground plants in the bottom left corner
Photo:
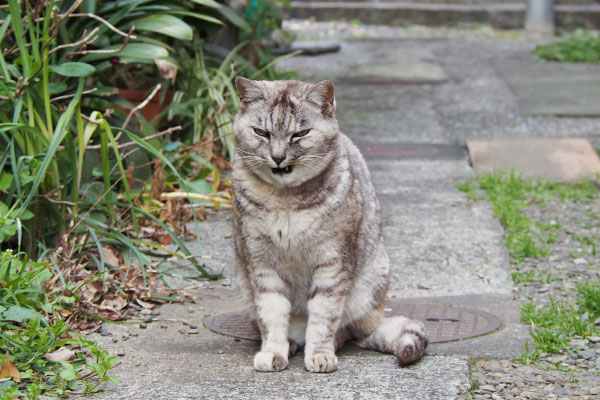
[[[0,398],[89,393],[116,381],[107,374],[115,357],[60,319],[74,298],[66,288],[47,293],[52,276],[47,263],[0,253],[0,365],[14,368],[0,380]]]

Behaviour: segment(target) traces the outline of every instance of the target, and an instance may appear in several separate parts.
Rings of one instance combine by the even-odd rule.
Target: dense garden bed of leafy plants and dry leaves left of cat
[[[230,204],[233,78],[277,77],[278,9],[252,4],[0,5],[0,398],[99,390],[116,360],[85,333],[181,301],[165,261],[218,276],[181,236]]]

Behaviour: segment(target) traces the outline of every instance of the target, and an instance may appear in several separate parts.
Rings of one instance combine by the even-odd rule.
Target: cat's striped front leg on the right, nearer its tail
[[[310,372],[337,370],[335,336],[344,313],[350,287],[348,274],[341,262],[317,266],[308,300],[308,324],[304,348],[304,366]]]

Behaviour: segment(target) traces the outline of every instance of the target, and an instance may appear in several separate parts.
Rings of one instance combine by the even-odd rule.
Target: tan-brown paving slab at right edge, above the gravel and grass
[[[467,148],[478,173],[514,169],[558,182],[600,174],[598,154],[582,138],[467,140]]]

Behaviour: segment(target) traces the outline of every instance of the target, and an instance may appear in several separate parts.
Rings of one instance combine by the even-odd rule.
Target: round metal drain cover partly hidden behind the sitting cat
[[[488,312],[446,304],[417,304],[388,300],[385,303],[385,316],[393,315],[403,315],[423,321],[430,343],[481,336],[500,327],[498,318]],[[260,332],[256,323],[241,312],[234,311],[205,318],[204,326],[223,335],[260,341]]]

